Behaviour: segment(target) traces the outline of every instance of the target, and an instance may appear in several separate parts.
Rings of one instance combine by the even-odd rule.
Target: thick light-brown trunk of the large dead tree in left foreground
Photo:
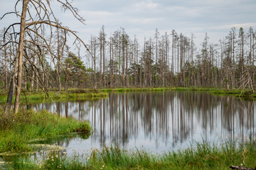
[[[20,38],[18,42],[18,76],[17,76],[17,87],[16,87],[16,98],[14,103],[14,113],[18,113],[20,97],[21,97],[21,86],[22,86],[22,67],[23,67],[23,41],[25,37],[25,21],[26,11],[29,0],[23,0],[23,7],[21,13],[21,27],[20,27]]]

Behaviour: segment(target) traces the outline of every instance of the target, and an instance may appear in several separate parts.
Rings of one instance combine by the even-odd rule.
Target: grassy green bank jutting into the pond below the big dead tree
[[[5,115],[0,111],[0,153],[31,151],[28,143],[72,132],[90,134],[89,123],[62,118],[48,111],[19,111]]]

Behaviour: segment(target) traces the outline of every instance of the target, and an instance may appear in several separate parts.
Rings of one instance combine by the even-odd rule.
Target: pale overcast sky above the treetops
[[[16,0],[0,0],[0,16],[14,11],[15,3]],[[252,26],[256,30],[256,0],[73,0],[73,6],[80,10],[86,26],[52,2],[63,25],[77,30],[87,43],[90,35],[98,35],[102,25],[107,35],[124,28],[131,38],[137,35],[141,41],[144,37],[153,38],[156,28],[161,34],[174,29],[188,37],[193,33],[198,44],[206,32],[210,42],[218,42],[233,27],[247,31]],[[0,29],[14,18],[12,15],[0,21]]]

